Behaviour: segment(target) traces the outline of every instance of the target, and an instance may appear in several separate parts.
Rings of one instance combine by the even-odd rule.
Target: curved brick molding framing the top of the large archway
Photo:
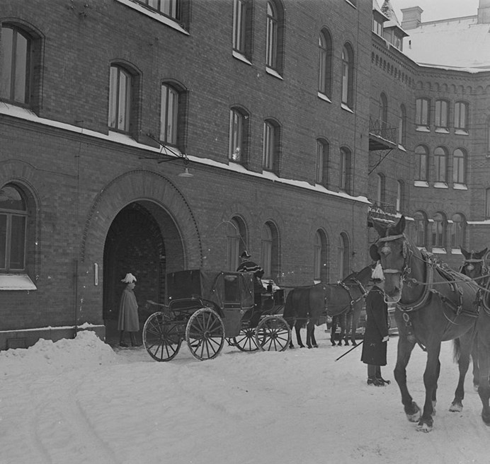
[[[159,205],[173,219],[183,243],[185,267],[202,267],[198,224],[186,198],[170,180],[147,170],[132,170],[120,175],[97,195],[84,226],[81,265],[101,261],[106,235],[116,214],[127,204],[143,200]]]

